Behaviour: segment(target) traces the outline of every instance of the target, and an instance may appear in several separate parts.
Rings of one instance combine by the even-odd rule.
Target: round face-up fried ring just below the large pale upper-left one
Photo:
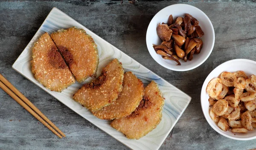
[[[212,107],[212,111],[217,116],[222,116],[227,112],[228,102],[224,99],[218,100]]]

